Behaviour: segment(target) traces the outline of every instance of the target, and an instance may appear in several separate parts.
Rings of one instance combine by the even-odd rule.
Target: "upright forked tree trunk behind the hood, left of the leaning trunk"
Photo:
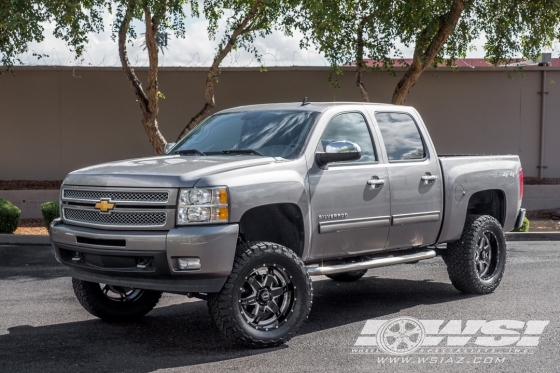
[[[130,65],[128,53],[126,51],[126,37],[130,27],[130,21],[134,12],[134,1],[130,1],[126,8],[123,21],[119,27],[119,57],[123,71],[130,82],[132,90],[136,95],[140,109],[142,110],[142,125],[148,135],[148,140],[152,144],[156,154],[163,154],[165,138],[159,131],[157,116],[159,112],[158,103],[158,47],[155,36],[159,21],[156,17],[151,17],[147,8],[144,8],[144,20],[146,22],[146,46],[148,49],[149,63],[148,68],[148,93],[144,92],[140,79],[136,76],[134,69]]]

